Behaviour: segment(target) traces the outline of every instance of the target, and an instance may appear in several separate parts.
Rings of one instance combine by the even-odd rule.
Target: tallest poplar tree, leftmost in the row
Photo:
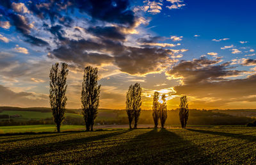
[[[52,65],[50,70],[50,104],[52,116],[56,123],[57,131],[60,132],[61,123],[65,118],[65,106],[67,104],[67,63],[61,63],[61,69],[58,69],[59,63]]]

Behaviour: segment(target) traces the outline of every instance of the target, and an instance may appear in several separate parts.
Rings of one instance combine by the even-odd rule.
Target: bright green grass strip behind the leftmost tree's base
[[[61,130],[81,130],[83,125],[62,125]],[[0,134],[7,133],[24,133],[24,132],[55,132],[55,125],[18,125],[18,126],[2,126]]]

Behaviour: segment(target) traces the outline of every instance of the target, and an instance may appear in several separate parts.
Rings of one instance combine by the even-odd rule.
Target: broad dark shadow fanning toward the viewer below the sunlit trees
[[[135,134],[138,130],[132,131]],[[126,142],[106,148],[104,152],[93,157],[86,157],[81,162],[85,164],[204,164],[211,162],[211,156],[206,156],[203,152],[202,148],[173,132],[166,129],[152,129]]]

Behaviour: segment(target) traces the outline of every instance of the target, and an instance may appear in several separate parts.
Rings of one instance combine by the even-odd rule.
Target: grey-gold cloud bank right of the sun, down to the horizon
[[[256,83],[256,75],[244,79],[236,79],[243,75],[243,70],[234,70],[230,63],[219,63],[205,57],[193,61],[180,61],[166,75],[170,79],[180,79],[181,84],[175,86],[173,95],[188,95],[191,107],[228,107],[231,102],[250,101],[246,98],[255,95],[252,88]],[[228,77],[233,77],[228,79]],[[253,98],[252,101],[256,101]],[[246,104],[246,103],[244,103]]]

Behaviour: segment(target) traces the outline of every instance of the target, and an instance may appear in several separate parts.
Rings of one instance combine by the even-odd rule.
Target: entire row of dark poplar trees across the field
[[[50,70],[50,104],[52,108],[52,116],[56,123],[57,131],[60,132],[61,123],[65,119],[65,106],[67,104],[67,63],[59,63],[52,65]],[[84,76],[81,91],[82,113],[86,131],[93,131],[95,118],[97,117],[97,109],[99,107],[100,85],[98,85],[98,69],[91,66],[84,68]],[[154,93],[153,98],[153,119],[157,128],[160,120],[161,128],[167,119],[166,96],[161,96],[159,102],[159,92]],[[134,129],[137,129],[138,120],[141,113],[141,86],[139,83],[131,84],[126,95],[126,112],[129,120],[129,127],[132,128],[134,121]],[[182,128],[186,128],[188,121],[188,99],[186,96],[180,97],[180,123]]]

